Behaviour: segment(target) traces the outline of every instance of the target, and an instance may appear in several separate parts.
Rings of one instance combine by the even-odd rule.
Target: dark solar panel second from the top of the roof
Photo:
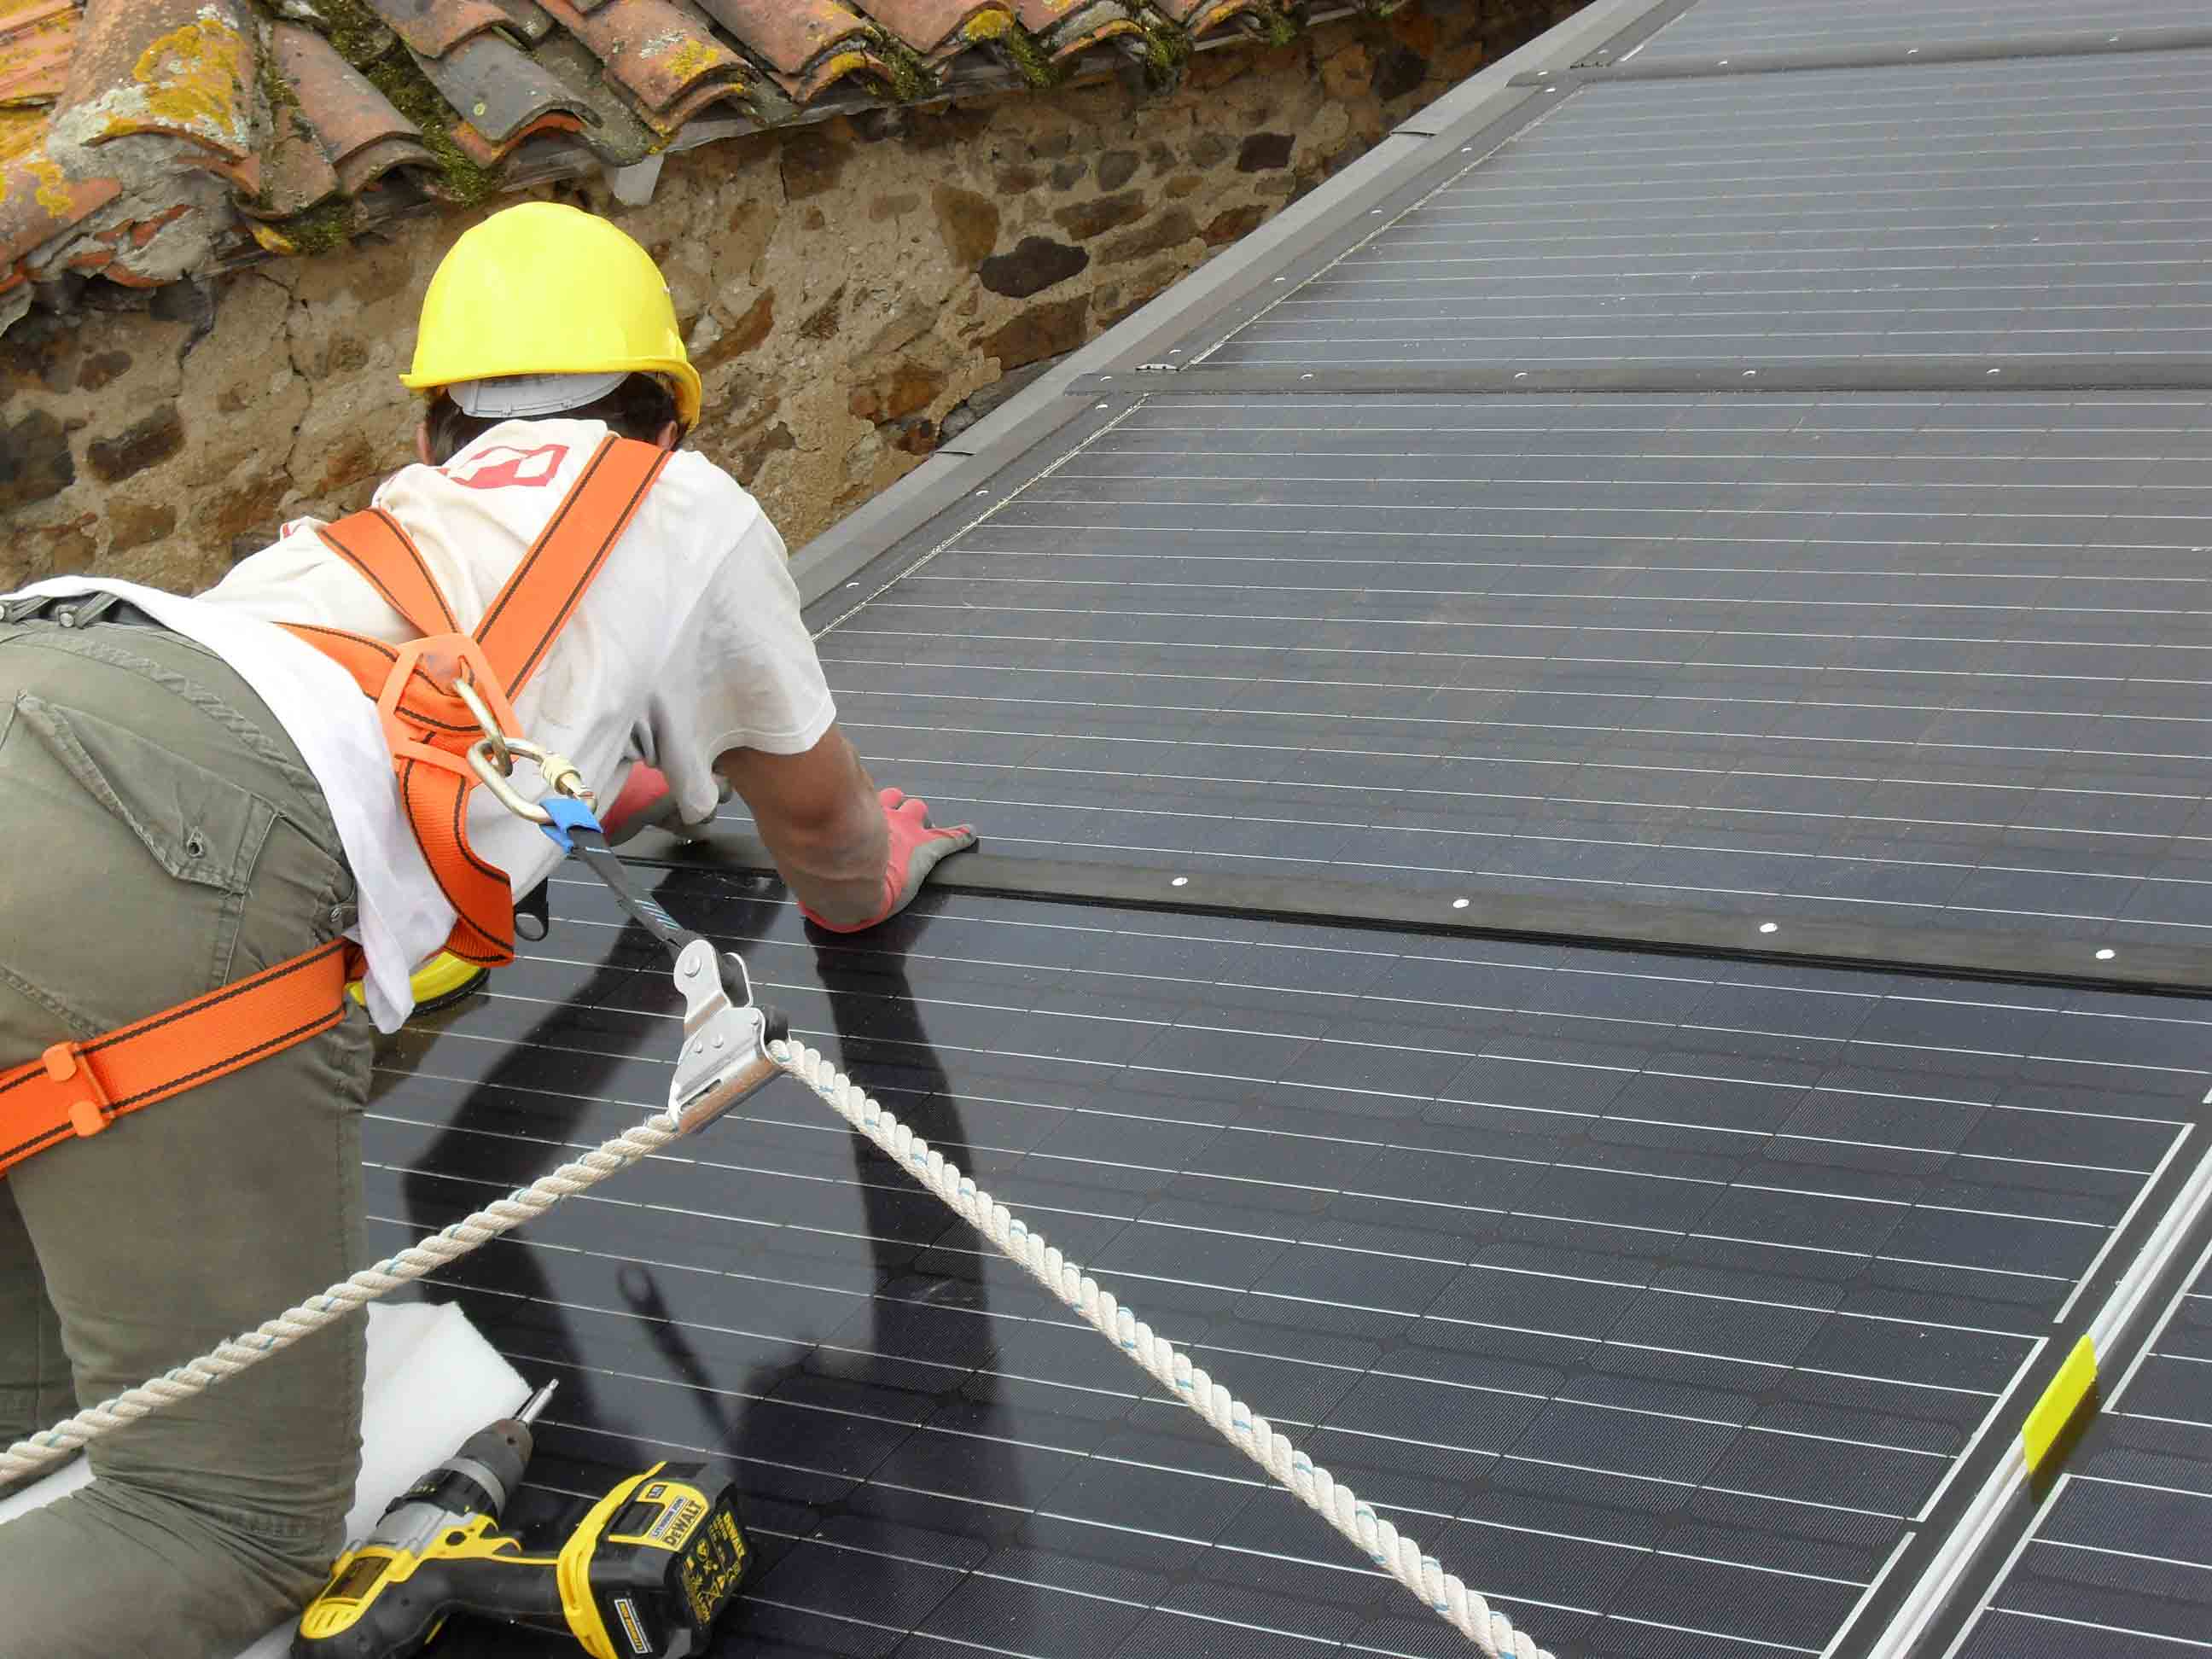
[[[2208,51],[1584,86],[1206,367],[2212,352],[2208,102]]]

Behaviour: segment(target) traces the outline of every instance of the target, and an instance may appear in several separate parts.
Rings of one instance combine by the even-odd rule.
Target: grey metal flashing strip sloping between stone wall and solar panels
[[[1590,0],[1566,22],[1506,53],[1407,119],[1325,186],[1290,204],[1252,234],[1206,261],[1183,281],[1115,323],[1066,363],[938,449],[896,484],[847,513],[792,555],[803,604],[814,604],[931,518],[973,493],[1009,460],[1051,438],[1088,409],[1071,396],[1077,380],[1113,376],[1110,389],[1137,392],[1135,367],[1208,316],[1248,296],[1261,281],[1365,212],[1376,192],[1402,186],[1473,133],[1537,97],[1515,77],[1542,64],[1566,69],[1606,42],[1637,31],[1650,13],[1681,11],[1681,0]],[[1152,378],[1152,376],[1144,376]],[[1166,389],[1172,380],[1161,376]]]

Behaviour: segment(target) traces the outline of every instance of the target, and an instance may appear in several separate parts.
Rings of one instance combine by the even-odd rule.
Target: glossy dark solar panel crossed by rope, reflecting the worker
[[[657,887],[1562,1655],[1818,1652],[2205,1093],[2172,1002],[768,891]],[[664,1099],[661,960],[553,916],[380,1057],[372,1243]],[[796,1084],[434,1290],[562,1378],[522,1524],[739,1475],[717,1652],[1464,1652]]]

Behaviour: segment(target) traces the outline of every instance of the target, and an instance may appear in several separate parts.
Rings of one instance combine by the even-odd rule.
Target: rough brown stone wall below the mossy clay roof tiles
[[[540,195],[661,261],[706,376],[695,442],[801,546],[971,394],[1099,334],[1577,2],[1416,0],[1199,53],[1166,95],[1104,80],[710,144],[646,208],[597,179]],[[281,520],[363,504],[411,458],[396,374],[480,212],[0,336],[0,591],[62,571],[192,591]]]

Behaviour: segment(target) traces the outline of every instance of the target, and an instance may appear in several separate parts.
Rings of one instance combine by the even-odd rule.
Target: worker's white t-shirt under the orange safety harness
[[[522,553],[606,438],[597,420],[509,420],[445,467],[407,467],[376,491],[473,630]],[[215,650],[270,706],[330,801],[358,883],[354,938],[367,956],[367,1004],[383,1031],[414,1009],[407,978],[453,927],[400,810],[376,706],[330,657],[274,628],[319,622],[405,644],[414,628],[352,564],[294,520],[197,599],[133,582],[53,577],[24,595],[115,593]],[[613,801],[635,761],[668,774],[679,812],[714,814],[719,754],[799,754],[836,719],[783,538],[745,489],[703,456],[679,451],[515,699],[522,737],[566,754]],[[542,794],[531,765],[515,783]],[[487,790],[469,805],[478,854],[526,894],[560,860],[538,825]]]

